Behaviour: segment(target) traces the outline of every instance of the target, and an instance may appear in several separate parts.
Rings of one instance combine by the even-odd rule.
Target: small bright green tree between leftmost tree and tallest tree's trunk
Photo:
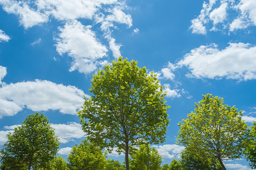
[[[107,162],[102,147],[95,146],[87,139],[72,147],[68,161],[72,170],[102,170]]]

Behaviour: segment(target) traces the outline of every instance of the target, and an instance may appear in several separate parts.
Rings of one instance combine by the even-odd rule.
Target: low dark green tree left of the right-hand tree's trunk
[[[222,167],[217,159],[202,156],[201,154],[190,152],[189,149],[181,151],[180,164],[185,170],[221,170]]]

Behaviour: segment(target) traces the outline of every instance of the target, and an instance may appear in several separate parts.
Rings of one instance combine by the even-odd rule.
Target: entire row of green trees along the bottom
[[[78,112],[86,139],[72,148],[69,163],[55,157],[58,138],[47,118],[36,113],[7,135],[1,169],[226,169],[223,160],[242,155],[256,168],[256,123],[248,127],[241,111],[210,94],[178,124],[177,143],[185,146],[180,159],[161,167],[150,144],[165,141],[170,107],[157,75],[137,63],[120,56],[93,75],[93,95]],[[125,154],[123,163],[102,151],[114,147]]]

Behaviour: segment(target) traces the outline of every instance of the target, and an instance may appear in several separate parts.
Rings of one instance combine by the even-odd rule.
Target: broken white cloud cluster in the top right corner
[[[256,1],[209,0],[204,2],[200,15],[191,20],[190,29],[195,34],[207,34],[207,30],[234,32],[248,26],[256,26]]]

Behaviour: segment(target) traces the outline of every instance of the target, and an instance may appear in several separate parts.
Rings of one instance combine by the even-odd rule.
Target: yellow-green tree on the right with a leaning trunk
[[[242,113],[210,94],[203,95],[195,106],[195,113],[191,112],[178,124],[178,143],[189,146],[191,152],[217,159],[226,169],[222,161],[241,157],[247,145],[248,127]]]

